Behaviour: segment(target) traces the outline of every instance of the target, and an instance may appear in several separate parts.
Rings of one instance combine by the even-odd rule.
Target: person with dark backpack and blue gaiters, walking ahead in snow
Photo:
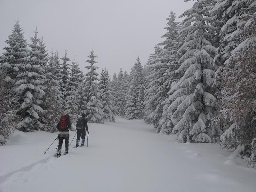
[[[80,141],[81,135],[82,135],[81,146],[84,146],[85,135],[86,135],[85,129],[86,129],[87,133],[89,134],[87,120],[85,119],[85,114],[82,114],[82,117],[80,117],[77,120],[76,129],[77,129],[76,147],[79,146],[79,141]]]

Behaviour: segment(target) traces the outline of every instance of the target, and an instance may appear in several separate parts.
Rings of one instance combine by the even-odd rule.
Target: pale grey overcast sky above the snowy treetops
[[[67,50],[84,72],[93,48],[98,73],[105,67],[111,76],[121,67],[129,73],[137,56],[144,65],[164,40],[169,13],[178,18],[192,5],[184,0],[0,0],[0,54],[19,19],[28,43],[37,26],[49,53],[53,48],[63,57]]]

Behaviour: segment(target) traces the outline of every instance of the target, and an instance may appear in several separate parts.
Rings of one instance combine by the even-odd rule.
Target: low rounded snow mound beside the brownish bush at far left
[[[6,142],[6,145],[19,145],[31,142],[31,139],[26,133],[15,130],[13,135],[10,135],[9,140]]]

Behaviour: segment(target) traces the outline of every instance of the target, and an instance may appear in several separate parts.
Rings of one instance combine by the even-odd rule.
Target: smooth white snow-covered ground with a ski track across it
[[[60,158],[57,140],[44,154],[57,133],[15,131],[0,147],[0,191],[256,191],[256,170],[218,144],[179,143],[142,120],[88,126],[88,148],[74,139]]]

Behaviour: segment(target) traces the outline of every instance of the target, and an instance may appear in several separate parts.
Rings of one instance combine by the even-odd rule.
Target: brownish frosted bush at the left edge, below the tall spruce
[[[8,69],[1,68],[0,70],[0,146],[4,145],[9,139],[9,135],[17,128],[19,121],[17,109],[13,106],[16,102],[14,92],[10,83],[4,81],[8,74]]]

